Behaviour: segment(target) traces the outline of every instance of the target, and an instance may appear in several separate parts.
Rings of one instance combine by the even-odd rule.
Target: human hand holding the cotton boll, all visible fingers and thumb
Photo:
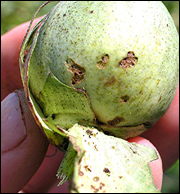
[[[36,19],[34,23],[37,20],[39,19]],[[22,24],[1,37],[1,99],[15,89],[22,88],[19,52],[28,24]],[[165,168],[178,158],[178,92],[179,90],[168,112],[152,129],[143,134],[143,137],[153,142],[160,152]],[[45,154],[51,155],[55,148],[49,145],[46,153],[48,141],[35,123],[26,104],[24,93],[16,91],[10,94],[1,105],[2,192],[18,192],[21,189],[24,192],[68,192],[67,184],[56,187],[55,174],[64,154],[57,151],[54,156],[45,157]],[[135,137],[129,141],[153,147],[147,139]],[[155,185],[160,189],[162,184],[161,158],[151,162],[150,166]],[[53,187],[54,184],[55,187]]]

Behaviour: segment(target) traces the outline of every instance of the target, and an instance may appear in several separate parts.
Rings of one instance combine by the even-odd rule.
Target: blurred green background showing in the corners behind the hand
[[[1,1],[1,35],[17,25],[31,20],[43,1]],[[37,15],[46,14],[57,1],[45,6]],[[163,1],[179,32],[179,1]],[[163,193],[179,193],[179,160],[164,173]]]

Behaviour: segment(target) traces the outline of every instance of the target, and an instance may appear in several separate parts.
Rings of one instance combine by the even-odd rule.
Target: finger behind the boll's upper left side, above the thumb
[[[35,19],[32,26],[41,18]],[[17,88],[22,88],[19,54],[28,26],[29,22],[26,22],[1,36],[1,100]]]

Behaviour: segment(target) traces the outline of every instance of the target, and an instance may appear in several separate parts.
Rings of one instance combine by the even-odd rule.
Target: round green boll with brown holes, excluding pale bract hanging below
[[[169,108],[179,38],[159,1],[59,2],[26,36],[20,66],[48,137],[78,123],[127,139]]]

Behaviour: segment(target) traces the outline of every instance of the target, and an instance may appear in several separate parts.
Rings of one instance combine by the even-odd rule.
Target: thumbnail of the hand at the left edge
[[[26,136],[20,100],[14,92],[1,102],[1,153],[15,149]]]

